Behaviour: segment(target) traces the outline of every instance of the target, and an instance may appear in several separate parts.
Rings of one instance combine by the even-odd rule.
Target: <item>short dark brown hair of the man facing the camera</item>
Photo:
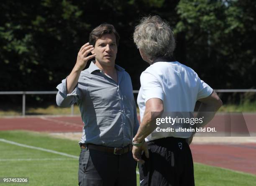
[[[91,31],[91,33],[89,35],[90,45],[95,46],[97,39],[101,38],[106,33],[114,33],[115,34],[115,41],[116,41],[116,45],[118,46],[118,42],[120,39],[119,34],[117,33],[117,31],[115,30],[115,27],[113,25],[110,25],[107,23],[103,23]]]

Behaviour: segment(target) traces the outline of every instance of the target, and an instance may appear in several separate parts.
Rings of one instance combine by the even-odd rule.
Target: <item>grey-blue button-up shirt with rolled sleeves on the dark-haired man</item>
[[[93,61],[81,72],[71,94],[67,94],[66,79],[56,87],[58,106],[69,107],[75,102],[79,105],[84,122],[79,143],[108,147],[125,147],[132,143],[139,124],[131,77],[120,66],[115,65],[115,68],[118,83],[100,71]]]

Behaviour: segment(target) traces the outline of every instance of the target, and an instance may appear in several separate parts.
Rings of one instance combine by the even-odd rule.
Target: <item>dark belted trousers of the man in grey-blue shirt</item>
[[[136,186],[136,166],[131,151],[115,155],[81,148],[79,186]]]

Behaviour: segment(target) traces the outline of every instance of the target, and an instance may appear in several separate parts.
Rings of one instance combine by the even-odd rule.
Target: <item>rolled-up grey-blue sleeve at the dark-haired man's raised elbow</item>
[[[72,104],[76,103],[80,97],[81,92],[77,87],[70,93],[67,94],[67,78],[63,79],[61,81],[61,84],[59,84],[56,89],[58,89],[58,93],[56,95],[56,103],[59,107],[70,107]]]

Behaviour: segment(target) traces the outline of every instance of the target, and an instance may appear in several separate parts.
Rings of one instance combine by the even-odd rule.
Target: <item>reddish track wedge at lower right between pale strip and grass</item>
[[[194,162],[256,174],[256,143],[190,145]]]

